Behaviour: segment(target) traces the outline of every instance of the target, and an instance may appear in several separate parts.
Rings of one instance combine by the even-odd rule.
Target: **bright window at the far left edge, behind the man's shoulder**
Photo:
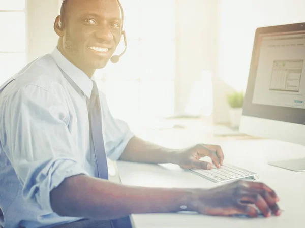
[[[25,0],[0,2],[0,84],[25,65]]]

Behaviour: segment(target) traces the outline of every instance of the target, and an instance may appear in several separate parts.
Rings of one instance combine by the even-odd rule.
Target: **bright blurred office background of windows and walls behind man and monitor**
[[[61,4],[0,0],[0,84],[53,50],[53,23]],[[184,127],[174,119],[229,124],[228,95],[246,90],[256,28],[305,22],[303,0],[121,4],[128,49],[119,63],[98,70],[96,80],[113,116],[133,129]]]

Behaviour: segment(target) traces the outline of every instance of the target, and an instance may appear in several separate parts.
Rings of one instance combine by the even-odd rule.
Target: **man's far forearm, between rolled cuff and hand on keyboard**
[[[143,163],[173,163],[174,149],[168,149],[154,143],[133,137],[127,144],[120,160]]]

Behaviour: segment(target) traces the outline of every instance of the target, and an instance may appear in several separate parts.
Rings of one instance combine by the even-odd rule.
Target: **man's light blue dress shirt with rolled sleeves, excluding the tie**
[[[52,227],[80,218],[52,211],[50,192],[65,178],[97,177],[89,125],[93,81],[57,48],[0,87],[0,226]],[[134,136],[99,93],[107,157],[120,157]]]

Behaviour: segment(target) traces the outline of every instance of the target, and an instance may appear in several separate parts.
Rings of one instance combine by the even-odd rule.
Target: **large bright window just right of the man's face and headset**
[[[129,123],[172,116],[175,78],[175,0],[121,0],[128,47],[96,76],[111,113]],[[122,39],[116,53],[124,50]]]

